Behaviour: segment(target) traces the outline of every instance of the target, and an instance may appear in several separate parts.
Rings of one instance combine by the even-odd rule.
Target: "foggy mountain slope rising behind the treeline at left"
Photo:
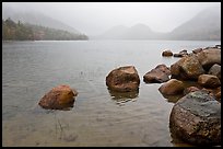
[[[58,20],[51,19],[43,13],[21,10],[20,8],[14,9],[12,7],[4,5],[4,8],[2,8],[2,19],[7,20],[9,18],[14,22],[21,21],[23,23],[30,23],[57,30],[64,30],[74,34],[81,34],[78,30]]]

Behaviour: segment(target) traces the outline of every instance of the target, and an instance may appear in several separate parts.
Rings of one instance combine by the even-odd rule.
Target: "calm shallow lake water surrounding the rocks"
[[[173,102],[161,84],[145,84],[143,74],[160,64],[164,49],[214,46],[221,42],[87,41],[2,43],[3,146],[188,146],[171,137]],[[140,76],[137,96],[109,93],[108,72],[133,65]],[[37,105],[59,84],[74,88],[70,111],[47,111]]]

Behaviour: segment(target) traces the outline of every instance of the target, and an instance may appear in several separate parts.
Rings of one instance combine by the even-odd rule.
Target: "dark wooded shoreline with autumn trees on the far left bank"
[[[84,34],[74,34],[39,25],[2,20],[2,41],[78,41],[89,39]]]

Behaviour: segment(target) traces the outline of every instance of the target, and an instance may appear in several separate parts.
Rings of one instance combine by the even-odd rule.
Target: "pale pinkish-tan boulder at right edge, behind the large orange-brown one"
[[[208,48],[197,54],[197,58],[207,71],[214,65],[221,65],[221,49]]]

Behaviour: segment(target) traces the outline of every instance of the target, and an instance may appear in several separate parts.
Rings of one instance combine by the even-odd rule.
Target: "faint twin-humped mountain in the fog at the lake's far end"
[[[144,24],[136,24],[131,27],[117,25],[96,36],[97,39],[154,39],[161,38],[162,33],[153,32]]]

